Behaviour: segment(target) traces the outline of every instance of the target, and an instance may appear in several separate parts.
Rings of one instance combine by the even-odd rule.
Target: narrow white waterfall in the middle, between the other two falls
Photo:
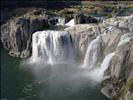
[[[103,56],[103,40],[101,36],[97,36],[87,48],[87,53],[84,58],[83,67],[92,69],[101,63]]]

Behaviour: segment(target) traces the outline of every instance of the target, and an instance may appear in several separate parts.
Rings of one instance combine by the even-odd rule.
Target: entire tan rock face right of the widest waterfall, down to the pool
[[[98,35],[104,42],[103,56],[114,53],[104,73],[101,92],[113,100],[133,99],[133,15],[80,24],[65,30],[71,34],[79,58]],[[101,58],[102,59],[102,58]]]

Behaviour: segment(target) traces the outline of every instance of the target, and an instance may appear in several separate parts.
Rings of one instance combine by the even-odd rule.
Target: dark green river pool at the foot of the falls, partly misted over
[[[1,49],[1,100],[108,100],[75,67],[21,63]]]

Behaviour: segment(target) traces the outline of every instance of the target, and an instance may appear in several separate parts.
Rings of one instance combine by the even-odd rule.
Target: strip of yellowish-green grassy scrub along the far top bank
[[[84,5],[70,6],[69,8],[64,8],[64,9],[53,10],[52,12],[59,16],[66,16],[66,15],[69,16],[82,12],[86,15],[104,16],[110,18],[116,13],[118,13],[117,15],[119,16],[130,15],[133,12],[133,5],[126,4],[124,5],[124,7],[122,7],[122,9],[119,9],[117,5],[112,3],[107,3],[105,5],[84,4]]]

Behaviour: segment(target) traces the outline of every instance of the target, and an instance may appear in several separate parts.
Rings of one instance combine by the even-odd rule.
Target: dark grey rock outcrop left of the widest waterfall
[[[2,46],[9,50],[9,54],[13,57],[30,56],[32,33],[45,28],[48,25],[47,21],[46,17],[40,15],[12,18],[1,26]]]

